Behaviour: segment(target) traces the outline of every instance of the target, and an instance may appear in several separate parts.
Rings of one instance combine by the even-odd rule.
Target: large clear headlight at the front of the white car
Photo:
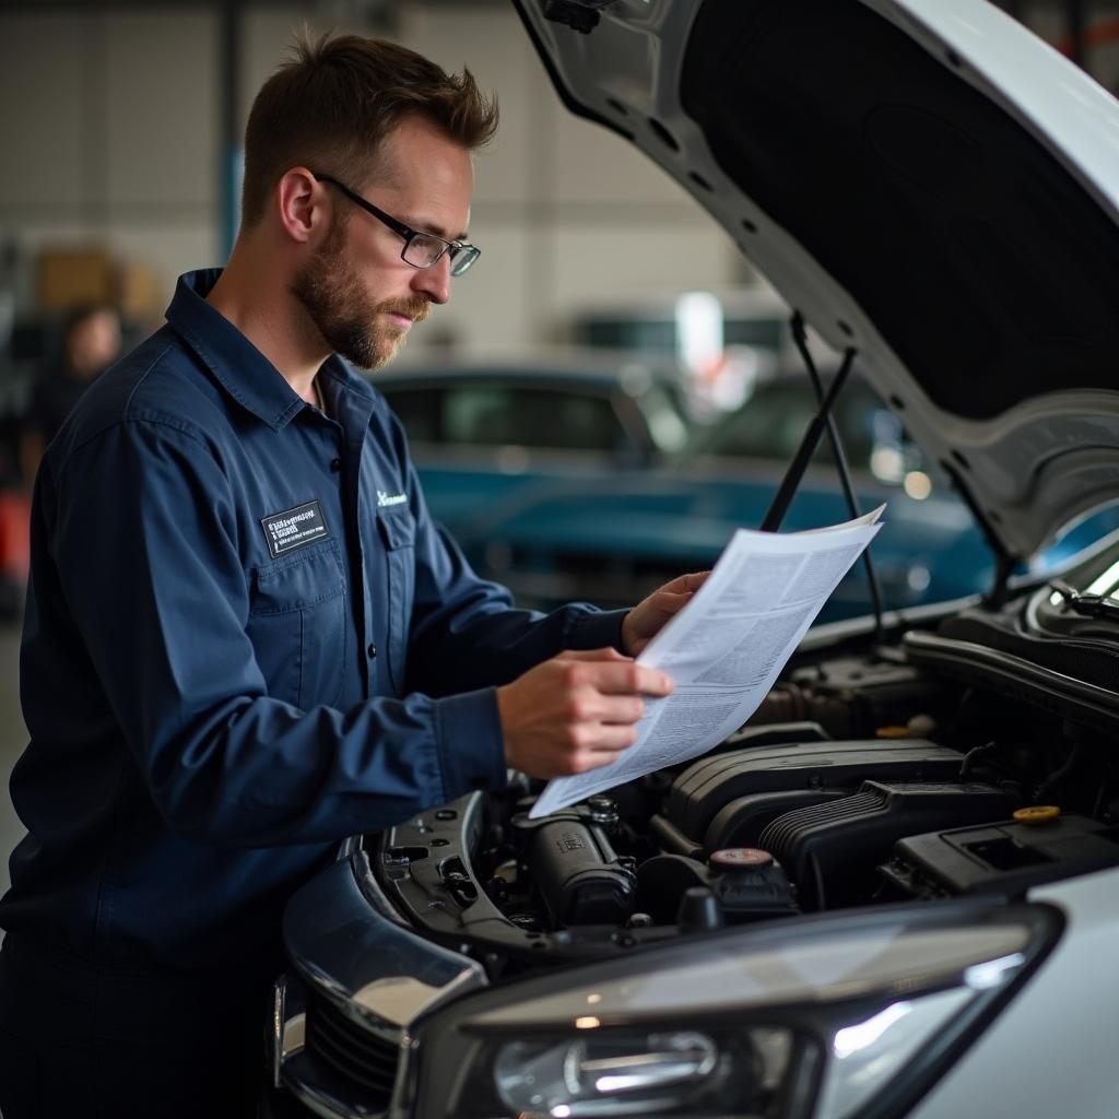
[[[413,1113],[847,1119],[887,1098],[904,1109],[1059,928],[1043,906],[949,903],[560,968],[420,1025]]]

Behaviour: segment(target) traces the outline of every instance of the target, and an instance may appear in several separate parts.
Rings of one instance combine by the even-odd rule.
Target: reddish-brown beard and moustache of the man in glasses
[[[346,258],[345,234],[345,223],[336,222],[316,254],[295,273],[291,293],[330,349],[361,369],[380,369],[396,356],[407,335],[406,328],[388,321],[387,312],[421,322],[431,303],[422,297],[370,300]]]

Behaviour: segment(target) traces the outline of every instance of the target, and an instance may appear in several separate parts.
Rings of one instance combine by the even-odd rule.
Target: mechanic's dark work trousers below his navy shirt
[[[254,1119],[267,969],[91,969],[8,938],[0,950],[3,1119]]]

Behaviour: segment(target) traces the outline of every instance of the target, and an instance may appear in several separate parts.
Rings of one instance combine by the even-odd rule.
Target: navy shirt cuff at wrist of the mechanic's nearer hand
[[[482,688],[436,699],[435,749],[445,803],[474,789],[504,789],[505,739],[497,711],[497,689]]]

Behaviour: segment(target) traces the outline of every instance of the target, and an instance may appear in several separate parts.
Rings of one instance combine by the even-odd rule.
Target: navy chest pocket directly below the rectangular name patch
[[[332,706],[346,666],[346,582],[333,540],[251,572],[248,638],[269,695]]]

